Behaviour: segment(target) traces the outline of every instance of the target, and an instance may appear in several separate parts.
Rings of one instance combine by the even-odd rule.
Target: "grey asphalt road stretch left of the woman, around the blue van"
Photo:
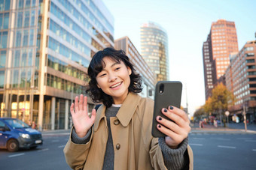
[[[63,148],[69,139],[67,133],[43,133],[44,144],[35,150],[8,152],[0,150],[0,169],[69,169]]]

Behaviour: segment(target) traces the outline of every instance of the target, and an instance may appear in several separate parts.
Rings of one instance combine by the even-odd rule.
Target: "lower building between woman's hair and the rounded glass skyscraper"
[[[157,81],[156,76],[142,58],[142,55],[139,54],[129,37],[121,37],[114,40],[114,48],[122,49],[124,52],[126,52],[126,55],[129,57],[131,63],[133,63],[135,66],[137,73],[142,76],[143,90],[140,95],[142,97],[150,97],[154,100],[154,88]]]

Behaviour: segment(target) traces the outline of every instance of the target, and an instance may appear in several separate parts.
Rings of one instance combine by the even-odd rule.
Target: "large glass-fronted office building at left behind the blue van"
[[[68,129],[90,58],[114,47],[113,35],[114,18],[100,0],[0,1],[0,116]]]

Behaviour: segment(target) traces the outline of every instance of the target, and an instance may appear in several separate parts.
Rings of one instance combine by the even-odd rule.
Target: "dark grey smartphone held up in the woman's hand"
[[[181,92],[182,92],[182,83],[178,81],[160,81],[157,82],[155,92],[154,92],[154,115],[153,115],[153,124],[152,124],[152,136],[159,138],[166,136],[157,130],[156,120],[157,116],[160,115],[162,118],[167,118],[162,113],[162,109],[168,109],[169,106],[175,106],[180,108],[181,106]],[[171,120],[172,121],[172,120]]]

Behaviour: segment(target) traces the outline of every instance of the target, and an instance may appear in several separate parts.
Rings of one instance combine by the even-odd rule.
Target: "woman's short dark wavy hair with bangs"
[[[107,108],[112,106],[113,99],[108,94],[105,94],[101,88],[98,88],[96,76],[103,70],[105,63],[103,58],[108,57],[117,63],[123,61],[126,67],[130,67],[132,73],[130,75],[130,86],[128,91],[134,93],[139,93],[142,91],[142,77],[139,73],[136,73],[136,70],[133,67],[133,64],[130,63],[129,58],[126,56],[123,50],[115,50],[113,48],[105,48],[99,52],[96,52],[93,55],[90,65],[88,67],[88,76],[90,77],[89,85],[87,85],[86,93],[90,95],[93,102],[100,103],[102,102]]]

